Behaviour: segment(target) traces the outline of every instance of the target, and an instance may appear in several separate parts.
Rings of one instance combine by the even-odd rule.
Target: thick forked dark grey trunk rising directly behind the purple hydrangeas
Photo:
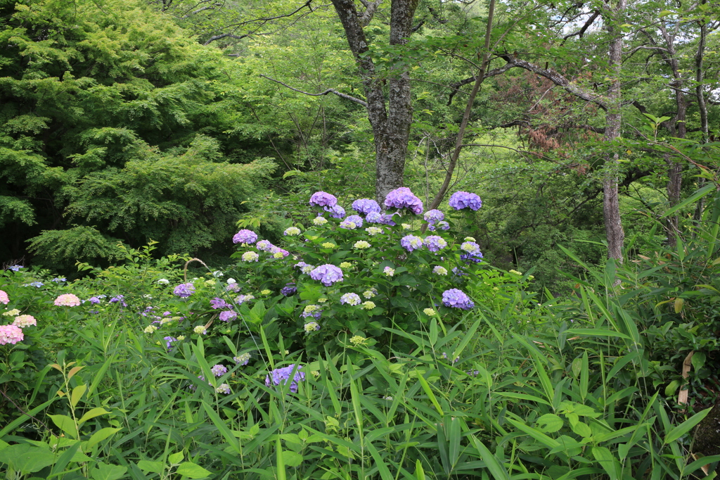
[[[367,99],[368,120],[375,143],[378,203],[387,192],[402,187],[405,156],[408,153],[413,105],[410,96],[410,74],[407,66],[395,68],[388,82],[387,108],[382,83],[375,76],[375,65],[369,55],[367,38],[353,0],[332,0],[343,24],[348,45],[358,65]],[[390,45],[405,45],[413,29],[413,16],[418,0],[392,0],[390,6]],[[396,59],[399,63],[402,58]]]

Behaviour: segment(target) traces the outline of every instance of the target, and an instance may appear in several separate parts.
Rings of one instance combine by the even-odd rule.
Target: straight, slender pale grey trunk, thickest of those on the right
[[[609,70],[613,77],[610,80],[610,88],[607,94],[607,105],[605,120],[605,140],[614,141],[620,137],[621,121],[621,83],[620,73],[623,56],[623,37],[621,32],[616,32],[613,24],[617,23],[618,17],[626,9],[626,0],[618,0],[613,9],[613,22],[608,31],[616,34],[610,43]],[[620,218],[620,202],[618,199],[618,154],[609,154],[606,159],[605,172],[603,174],[603,215],[605,217],[605,233],[608,239],[608,257],[623,261],[623,243],[625,231],[623,230]]]

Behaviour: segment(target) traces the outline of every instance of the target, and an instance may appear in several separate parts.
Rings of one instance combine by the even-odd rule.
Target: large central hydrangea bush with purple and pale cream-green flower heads
[[[341,205],[328,192],[315,192],[308,205],[310,217],[285,228],[282,246],[239,231],[232,239],[237,265],[225,272],[227,283],[216,281],[212,298],[186,283],[170,285],[189,310],[215,316],[163,324],[160,333],[201,335],[210,344],[218,334],[238,334],[237,346],[248,352],[261,329],[271,343],[282,330],[284,348],[307,358],[346,347],[352,337],[403,349],[405,340],[389,329],[413,332],[436,315],[459,321],[473,308],[467,283],[484,268],[480,247],[455,239],[441,224],[449,228],[446,215],[425,213],[410,189],[390,192],[385,211],[366,198]],[[423,223],[436,228],[423,233]]]

